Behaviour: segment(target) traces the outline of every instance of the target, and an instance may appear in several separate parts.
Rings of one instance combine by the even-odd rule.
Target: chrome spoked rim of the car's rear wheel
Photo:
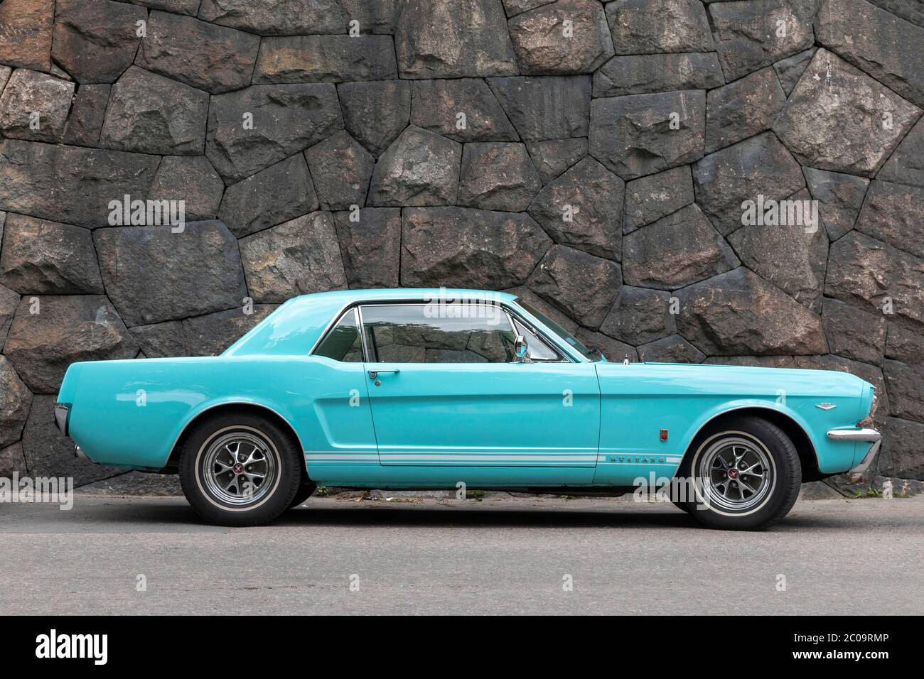
[[[274,447],[249,431],[228,431],[202,455],[202,477],[213,497],[225,504],[259,503],[272,491],[278,473]]]

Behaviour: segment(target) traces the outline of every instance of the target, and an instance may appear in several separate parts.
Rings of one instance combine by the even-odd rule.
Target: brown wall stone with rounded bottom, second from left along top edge
[[[78,82],[114,82],[141,42],[143,7],[113,0],[57,0],[52,58]]]

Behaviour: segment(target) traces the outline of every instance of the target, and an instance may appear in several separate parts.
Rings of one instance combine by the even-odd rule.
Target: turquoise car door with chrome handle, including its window
[[[443,315],[424,304],[360,308],[383,466],[528,467],[536,473],[526,477],[549,482],[555,468],[584,468],[590,481],[600,430],[593,365],[535,335],[531,362],[515,362],[507,311],[466,307]]]

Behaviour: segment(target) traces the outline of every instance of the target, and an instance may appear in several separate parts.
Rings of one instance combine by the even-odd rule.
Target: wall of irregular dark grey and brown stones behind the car
[[[860,486],[924,479],[921,45],[918,0],[4,0],[0,474],[119,473],[51,424],[72,361],[450,285],[615,358],[853,372]],[[149,199],[182,232],[113,225]]]

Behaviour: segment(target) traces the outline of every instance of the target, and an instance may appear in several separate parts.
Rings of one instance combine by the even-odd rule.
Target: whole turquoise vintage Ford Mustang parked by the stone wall
[[[875,390],[853,375],[614,358],[513,295],[327,292],[290,299],[221,356],[75,363],[55,421],[94,462],[178,472],[196,511],[232,526],[318,484],[670,481],[706,525],[755,529],[800,482],[861,471],[879,448]]]

